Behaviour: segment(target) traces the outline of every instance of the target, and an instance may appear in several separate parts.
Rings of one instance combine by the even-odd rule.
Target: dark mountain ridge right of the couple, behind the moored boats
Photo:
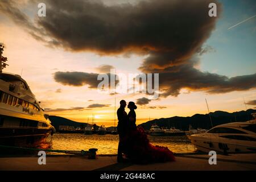
[[[256,113],[255,109],[248,109],[246,111],[237,111],[234,113],[228,113],[225,111],[215,111],[210,113],[212,118],[212,125],[217,126],[230,122],[243,122],[253,119],[251,113]],[[209,114],[195,114],[192,117],[171,117],[160,118],[152,121],[147,121],[141,125],[145,130],[150,130],[152,124],[156,124],[159,127],[176,127],[176,129],[188,130],[189,125],[194,128],[210,129],[212,127]]]

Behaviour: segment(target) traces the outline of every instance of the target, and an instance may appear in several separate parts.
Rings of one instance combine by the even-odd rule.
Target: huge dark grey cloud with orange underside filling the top
[[[208,16],[208,5],[216,0],[151,0],[112,6],[101,1],[48,0],[44,1],[47,16],[36,18],[33,24],[14,2],[3,0],[2,11],[34,34],[48,36],[52,46],[105,55],[168,55],[158,60],[163,65],[191,56],[209,37],[217,19]],[[40,1],[31,2],[36,5]],[[217,5],[219,11],[221,6]]]

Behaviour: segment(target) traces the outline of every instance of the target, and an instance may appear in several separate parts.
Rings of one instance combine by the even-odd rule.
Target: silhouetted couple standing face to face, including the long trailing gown
[[[125,111],[126,101],[120,101],[117,110],[119,134],[117,162],[131,161],[133,163],[147,164],[154,162],[174,161],[174,155],[167,147],[154,146],[147,139],[147,134],[142,127],[136,125],[137,106],[129,102],[130,112]],[[123,158],[123,154],[126,158]]]

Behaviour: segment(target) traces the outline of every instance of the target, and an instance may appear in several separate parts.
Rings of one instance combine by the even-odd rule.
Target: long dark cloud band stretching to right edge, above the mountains
[[[201,72],[191,64],[177,65],[159,73],[159,88],[162,96],[177,96],[180,90],[201,90],[208,93],[228,93],[256,88],[256,73],[227,77]]]

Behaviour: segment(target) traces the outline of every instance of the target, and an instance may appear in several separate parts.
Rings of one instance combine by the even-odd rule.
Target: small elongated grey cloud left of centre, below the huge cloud
[[[110,86],[110,73],[109,76],[109,86]],[[97,89],[98,84],[102,80],[97,80],[98,73],[85,73],[85,72],[55,72],[54,80],[63,85],[70,86],[83,86],[89,85],[89,88]],[[115,81],[115,84],[118,84],[118,80]]]

